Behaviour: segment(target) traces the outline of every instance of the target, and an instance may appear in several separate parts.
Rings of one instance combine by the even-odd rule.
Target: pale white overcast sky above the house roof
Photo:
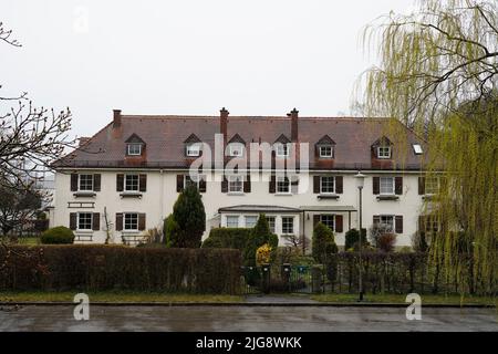
[[[2,0],[2,94],[73,112],[90,136],[124,114],[347,113],[375,59],[364,25],[413,0]],[[3,105],[2,111],[6,106]]]

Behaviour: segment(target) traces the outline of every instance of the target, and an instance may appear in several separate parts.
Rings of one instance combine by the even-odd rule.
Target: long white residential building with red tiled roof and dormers
[[[81,242],[104,242],[108,229],[111,241],[133,244],[162,226],[178,194],[194,183],[206,209],[204,237],[212,227],[252,227],[264,214],[280,244],[288,235],[311,238],[322,221],[342,246],[344,233],[359,227],[354,176],[361,170],[363,227],[385,223],[397,247],[409,246],[425,191],[436,187],[421,177],[424,142],[404,127],[404,138],[393,136],[398,134],[387,123],[300,117],[295,108],[280,117],[229,116],[225,108],[219,116],[115,110],[112,122],[54,164],[54,225],[71,227]],[[221,164],[215,156],[220,140]],[[272,149],[270,165],[252,164],[262,153],[252,155],[251,147],[264,143]],[[201,158],[208,159],[199,178],[190,167]],[[227,173],[237,162],[236,174]],[[293,163],[298,168],[289,168]]]

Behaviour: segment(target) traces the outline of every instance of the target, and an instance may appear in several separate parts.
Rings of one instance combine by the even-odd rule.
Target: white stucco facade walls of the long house
[[[286,207],[299,209],[295,212],[267,212],[267,216],[274,217],[274,231],[282,235],[282,217],[293,217],[292,231],[297,236],[307,236],[311,239],[314,215],[342,215],[343,227],[341,232],[335,232],[335,241],[339,246],[344,244],[344,235],[351,228],[359,228],[359,189],[354,175],[357,171],[310,171],[309,175],[300,176],[301,190],[299,194],[279,195],[269,192],[269,173],[262,173],[263,180],[258,180],[258,175],[251,175],[250,192],[230,194],[221,192],[221,181],[208,180],[206,192],[203,192],[203,202],[206,210],[206,232],[209,233],[212,227],[226,227],[227,216],[237,216],[239,227],[245,227],[246,216],[258,216],[256,211],[243,212],[219,212],[220,208],[235,206],[268,206]],[[80,195],[71,190],[71,174],[98,174],[100,190],[91,195]],[[136,192],[133,197],[124,196],[116,191],[117,174],[141,174],[146,175],[146,190]],[[79,242],[103,243],[106,239],[105,212],[110,226],[111,242],[122,243],[123,235],[141,237],[142,230],[116,230],[116,215],[133,214],[145,215],[145,230],[162,227],[163,219],[173,211],[173,206],[178,197],[177,175],[188,174],[188,170],[159,170],[159,169],[59,169],[55,177],[55,209],[53,226],[70,227],[71,215],[92,214],[100,218],[100,227],[96,230],[86,228],[81,230],[77,226],[74,231]],[[419,174],[415,171],[363,171],[366,175],[363,188],[363,228],[370,228],[374,216],[403,217],[403,231],[397,233],[396,247],[411,246],[411,238],[417,230],[417,220],[423,206],[423,198],[418,194],[417,184]],[[313,176],[342,176],[343,192],[338,199],[320,199],[313,192]],[[219,177],[220,175],[218,175]],[[396,200],[377,200],[373,194],[373,177],[403,177],[403,190],[396,196]],[[308,187],[303,187],[307,186]],[[329,211],[310,211],[310,208],[323,207]],[[354,211],[333,211],[334,208],[341,210],[351,207]],[[85,216],[83,216],[85,217]],[[83,218],[82,217],[82,218]],[[351,218],[350,218],[351,217]],[[249,218],[250,219],[250,218]],[[232,218],[231,221],[235,219]],[[287,220],[288,221],[288,220]],[[89,221],[90,222],[90,221]],[[95,222],[95,220],[93,220]],[[90,226],[90,223],[87,223]],[[73,225],[74,228],[74,225]],[[284,239],[280,238],[280,246],[284,244]]]

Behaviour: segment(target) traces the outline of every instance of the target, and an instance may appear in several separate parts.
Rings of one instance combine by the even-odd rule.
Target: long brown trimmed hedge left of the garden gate
[[[238,294],[240,266],[227,249],[15,246],[0,249],[0,289]]]

